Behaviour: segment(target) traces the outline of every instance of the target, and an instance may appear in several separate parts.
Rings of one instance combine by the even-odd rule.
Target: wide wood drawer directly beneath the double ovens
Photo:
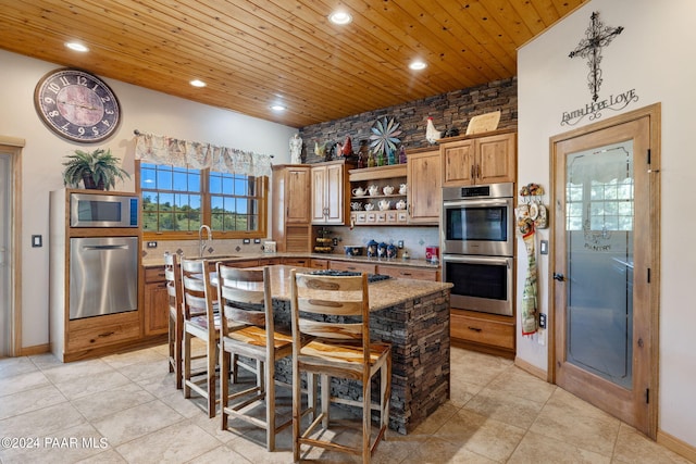
[[[472,317],[457,310],[450,311],[451,337],[475,343],[514,349],[514,324]]]

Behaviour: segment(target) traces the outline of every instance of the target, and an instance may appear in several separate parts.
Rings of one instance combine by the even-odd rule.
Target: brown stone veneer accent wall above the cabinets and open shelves
[[[302,161],[325,161],[314,154],[314,142],[318,141],[320,146],[326,141],[343,143],[346,136],[350,136],[353,152],[358,152],[360,141],[368,140],[374,123],[385,116],[395,117],[400,123],[399,128],[403,133],[399,138],[408,153],[409,149],[428,147],[425,141],[427,116],[433,117],[433,124],[438,130],[453,127],[460,135],[464,135],[472,116],[498,110],[501,113],[498,128],[517,128],[517,77],[302,127],[299,130],[303,141]]]

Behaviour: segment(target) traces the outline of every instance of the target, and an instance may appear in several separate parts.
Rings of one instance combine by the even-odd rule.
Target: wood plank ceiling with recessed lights
[[[0,48],[303,127],[512,77],[517,49],[586,1],[0,0]],[[327,21],[337,5],[351,24]]]

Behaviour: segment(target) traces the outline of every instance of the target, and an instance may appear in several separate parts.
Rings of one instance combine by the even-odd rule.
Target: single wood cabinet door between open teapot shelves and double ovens
[[[408,160],[409,223],[439,224],[442,203],[439,151],[413,153]]]

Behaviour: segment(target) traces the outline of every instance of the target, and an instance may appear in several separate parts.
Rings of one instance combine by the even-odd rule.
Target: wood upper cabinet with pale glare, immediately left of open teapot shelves
[[[349,189],[346,161],[328,161],[312,165],[312,224],[346,223],[349,205],[345,201]]]

